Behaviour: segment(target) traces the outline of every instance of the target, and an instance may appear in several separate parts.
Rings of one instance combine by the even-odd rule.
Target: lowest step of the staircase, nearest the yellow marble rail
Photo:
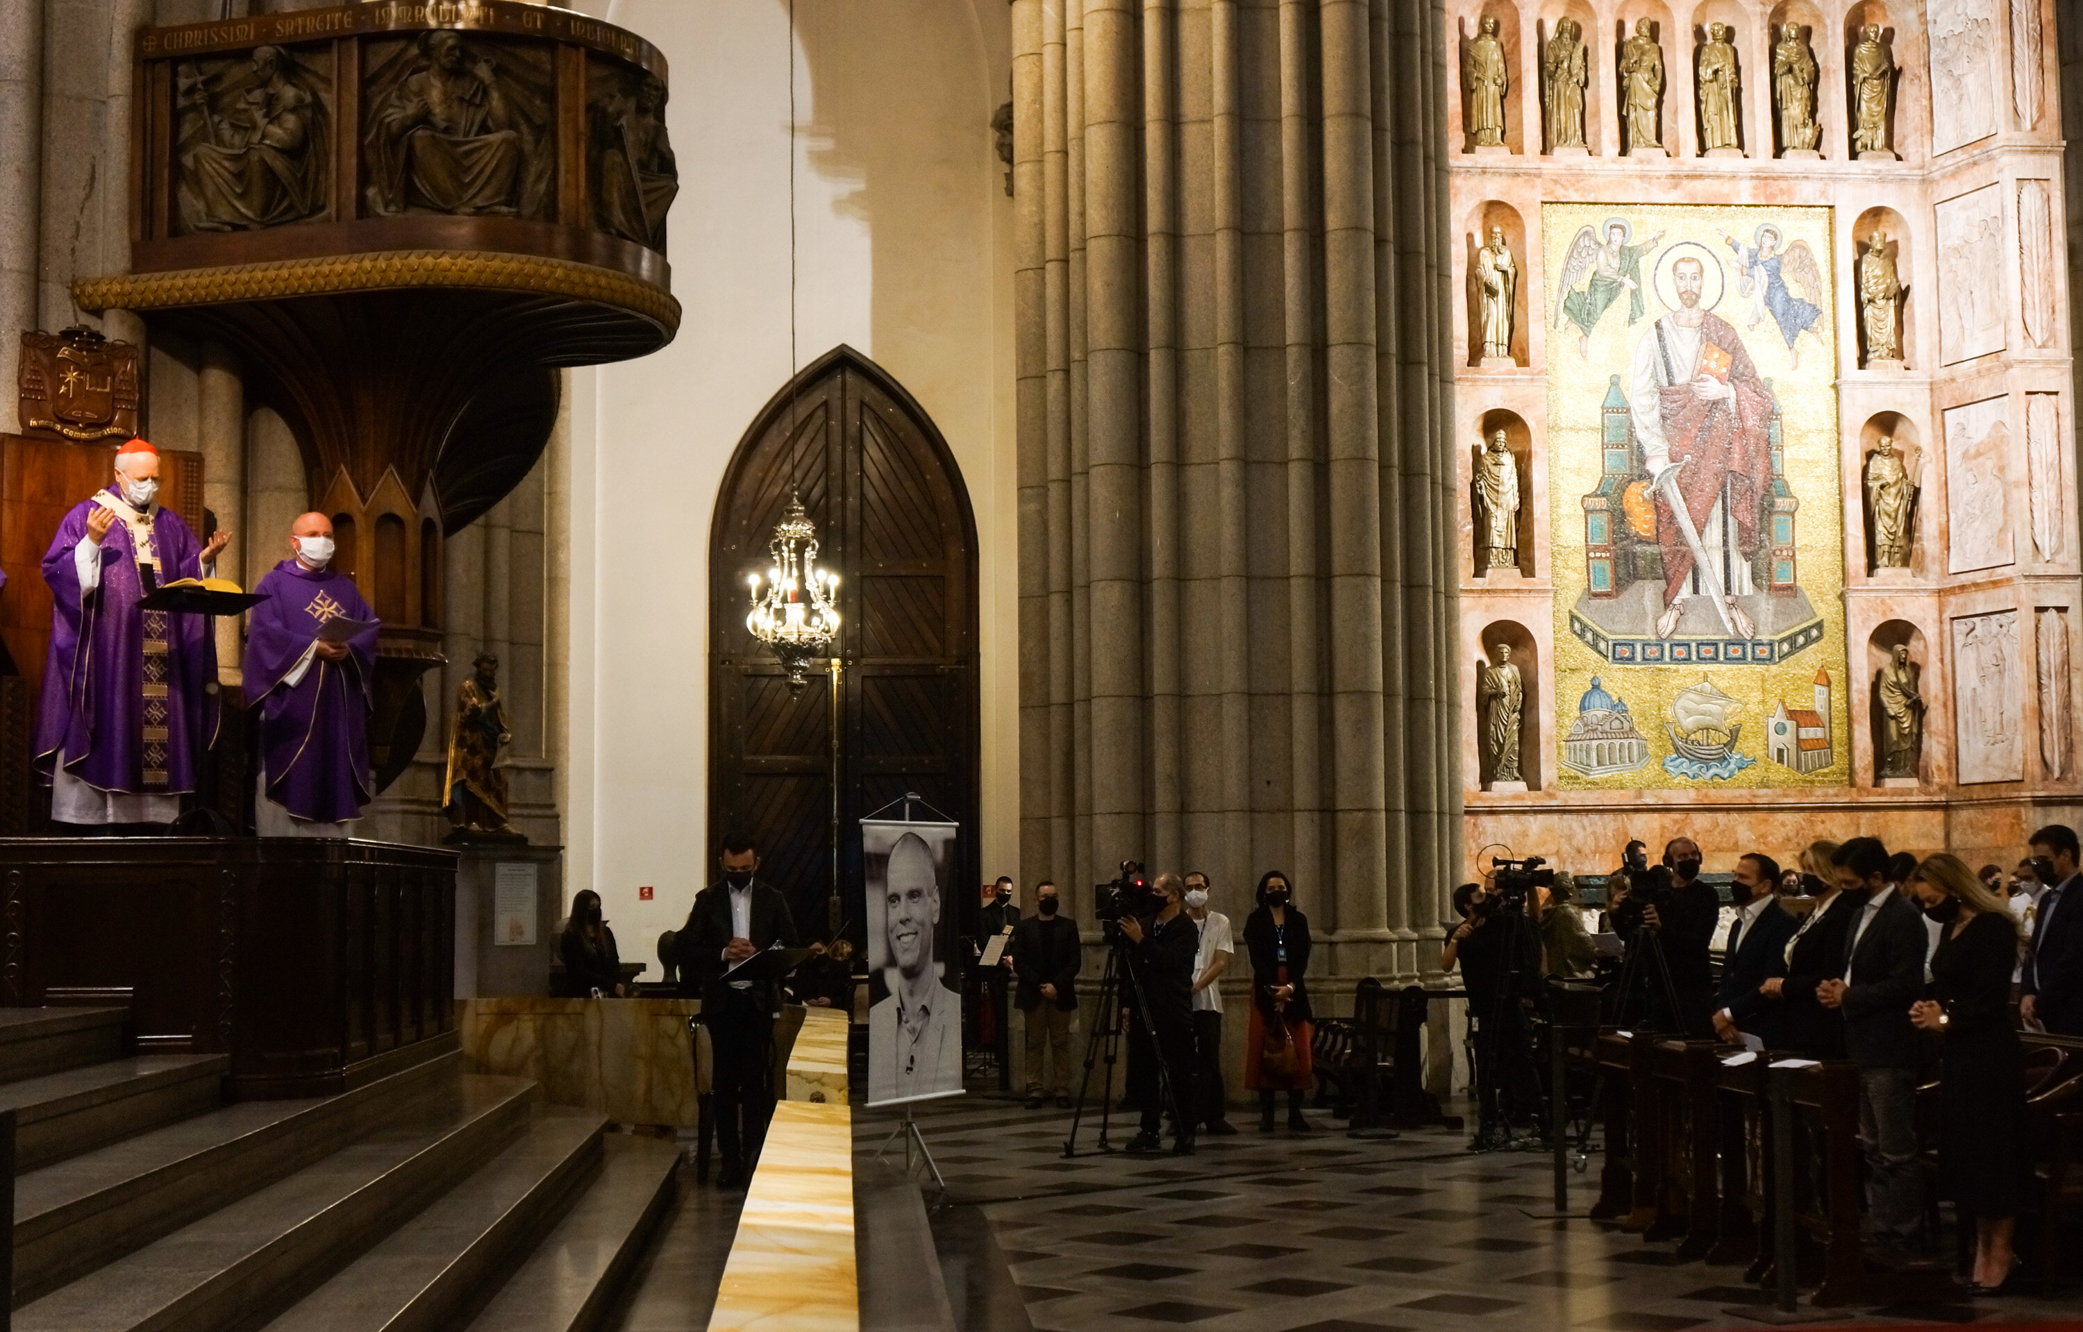
[[[594,1332],[673,1203],[679,1147],[610,1132],[600,1178],[500,1286],[469,1332]]]

